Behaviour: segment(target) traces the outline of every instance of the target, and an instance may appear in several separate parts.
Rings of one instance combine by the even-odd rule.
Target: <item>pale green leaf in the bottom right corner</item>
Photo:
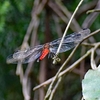
[[[100,100],[100,66],[88,70],[82,80],[82,93],[85,100]]]

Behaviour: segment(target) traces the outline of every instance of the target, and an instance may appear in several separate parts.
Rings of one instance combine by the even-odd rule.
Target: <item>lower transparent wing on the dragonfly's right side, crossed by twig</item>
[[[59,46],[59,44],[56,44],[56,45],[53,45],[52,47],[50,47],[50,52],[55,54],[57,52],[58,46]],[[66,52],[66,51],[74,48],[75,46],[76,46],[76,44],[74,42],[63,43],[60,48],[59,53]]]

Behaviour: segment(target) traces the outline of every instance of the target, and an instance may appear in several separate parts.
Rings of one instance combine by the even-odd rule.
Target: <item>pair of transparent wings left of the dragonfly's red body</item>
[[[18,61],[21,61],[22,63],[28,63],[35,61],[41,55],[42,48],[43,45],[38,45],[25,51],[15,52],[14,54],[8,56],[7,63],[17,63]]]

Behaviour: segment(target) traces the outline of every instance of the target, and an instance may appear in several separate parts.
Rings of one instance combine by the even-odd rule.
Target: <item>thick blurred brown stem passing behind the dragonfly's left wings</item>
[[[38,25],[39,25],[38,15],[42,12],[46,2],[47,2],[47,0],[42,0],[41,2],[40,2],[40,0],[34,1],[32,19],[31,19],[31,22],[27,29],[26,35],[24,37],[24,40],[23,40],[23,43],[21,46],[21,50],[23,50],[24,48],[26,48],[28,46],[28,40],[30,38],[30,34],[32,33],[32,31],[33,31],[34,35],[37,34],[37,29],[38,29]],[[32,36],[33,36],[33,34],[32,34]],[[20,76],[24,99],[30,100],[31,99],[31,92],[30,92],[31,84],[30,84],[29,74],[31,72],[32,65],[28,65],[29,67],[26,68],[25,74],[22,73],[23,68],[21,65],[22,65],[22,63],[18,62],[16,72]]]

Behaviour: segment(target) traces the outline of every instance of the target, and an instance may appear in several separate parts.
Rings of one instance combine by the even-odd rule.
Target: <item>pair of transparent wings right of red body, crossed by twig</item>
[[[78,33],[73,33],[65,36],[59,53],[68,51],[76,46],[82,39],[90,33],[90,29],[84,29]],[[60,44],[61,38],[50,42],[50,51],[56,53]]]

